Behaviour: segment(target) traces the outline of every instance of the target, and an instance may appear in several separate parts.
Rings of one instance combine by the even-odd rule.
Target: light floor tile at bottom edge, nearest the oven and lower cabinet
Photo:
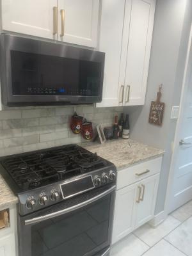
[[[112,246],[110,256],[141,256],[148,249],[147,244],[131,234]]]

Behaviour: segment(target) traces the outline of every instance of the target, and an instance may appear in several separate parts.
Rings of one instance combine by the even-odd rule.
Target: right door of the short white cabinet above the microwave
[[[58,0],[58,40],[97,47],[99,0]]]

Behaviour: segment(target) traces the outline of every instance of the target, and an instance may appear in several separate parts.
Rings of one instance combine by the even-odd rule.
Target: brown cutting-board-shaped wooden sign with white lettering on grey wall
[[[156,101],[152,101],[150,105],[150,113],[148,122],[150,124],[155,124],[161,126],[163,123],[163,113],[164,113],[164,103],[161,102],[161,90],[163,88],[163,84],[159,85],[159,92],[157,92]]]

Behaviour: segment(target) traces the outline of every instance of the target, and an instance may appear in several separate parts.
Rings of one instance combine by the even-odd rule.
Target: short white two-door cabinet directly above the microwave
[[[99,0],[2,0],[2,29],[97,47]]]

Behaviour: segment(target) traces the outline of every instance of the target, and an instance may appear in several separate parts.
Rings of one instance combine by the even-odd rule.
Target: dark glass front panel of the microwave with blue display
[[[13,95],[98,96],[102,63],[11,51]]]

